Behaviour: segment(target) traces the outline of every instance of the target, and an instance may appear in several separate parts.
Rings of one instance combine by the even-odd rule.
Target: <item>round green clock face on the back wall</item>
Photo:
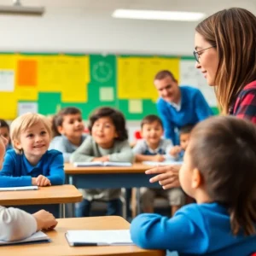
[[[113,77],[113,68],[108,62],[98,61],[92,67],[93,78],[100,83],[106,83]]]

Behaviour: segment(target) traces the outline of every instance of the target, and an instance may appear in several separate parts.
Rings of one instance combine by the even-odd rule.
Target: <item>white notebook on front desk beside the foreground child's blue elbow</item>
[[[67,230],[71,247],[132,245],[130,230]]]

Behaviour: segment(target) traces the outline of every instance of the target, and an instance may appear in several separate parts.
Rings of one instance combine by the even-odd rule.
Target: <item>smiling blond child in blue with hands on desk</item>
[[[0,187],[64,183],[63,156],[48,150],[50,136],[48,119],[38,113],[25,113],[13,121],[10,137],[14,149],[5,155]]]

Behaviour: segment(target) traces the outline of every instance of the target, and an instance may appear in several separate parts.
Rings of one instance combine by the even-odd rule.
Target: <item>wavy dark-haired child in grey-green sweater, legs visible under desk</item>
[[[71,161],[132,162],[133,154],[127,141],[125,117],[114,108],[98,108],[90,115],[91,136],[71,155]],[[100,177],[99,177],[100,178]],[[81,189],[84,201],[79,203],[76,216],[90,214],[93,200],[107,201],[107,215],[121,215],[121,189]]]

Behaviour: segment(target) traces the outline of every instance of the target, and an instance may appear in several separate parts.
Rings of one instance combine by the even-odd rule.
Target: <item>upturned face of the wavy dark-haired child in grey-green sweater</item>
[[[97,119],[92,125],[91,136],[102,148],[110,148],[113,145],[114,139],[118,137],[118,134],[112,119],[102,117]]]

